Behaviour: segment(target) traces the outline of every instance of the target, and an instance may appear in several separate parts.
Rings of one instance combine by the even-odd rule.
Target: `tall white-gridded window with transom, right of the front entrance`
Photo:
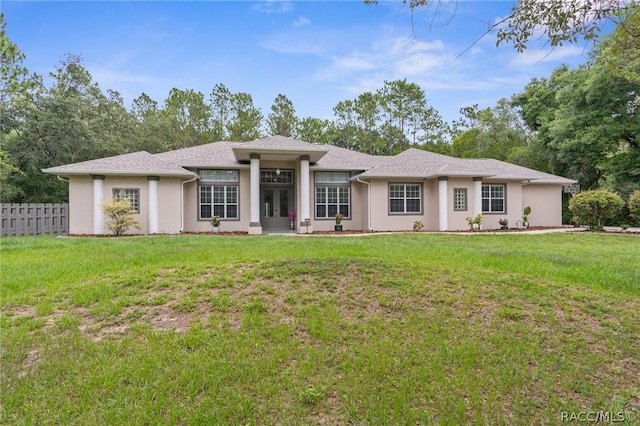
[[[316,219],[334,219],[340,213],[351,217],[351,183],[349,172],[316,172]]]

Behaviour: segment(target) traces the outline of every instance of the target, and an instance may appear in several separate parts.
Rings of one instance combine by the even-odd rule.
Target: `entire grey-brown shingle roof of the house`
[[[541,183],[568,184],[575,182],[560,176],[539,172],[494,159],[465,159],[410,148],[395,156],[376,156],[351,151],[333,145],[310,144],[284,136],[257,139],[250,142],[214,142],[160,154],[146,151],[100,158],[43,170],[59,175],[122,174],[195,176],[186,168],[238,166],[233,148],[263,148],[266,150],[316,153],[316,169],[364,171],[358,175],[371,177],[430,178],[437,176],[474,176],[492,180],[517,179]]]

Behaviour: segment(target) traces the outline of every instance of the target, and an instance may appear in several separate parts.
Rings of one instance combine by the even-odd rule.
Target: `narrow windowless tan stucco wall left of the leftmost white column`
[[[93,178],[69,178],[69,233],[93,234]]]

